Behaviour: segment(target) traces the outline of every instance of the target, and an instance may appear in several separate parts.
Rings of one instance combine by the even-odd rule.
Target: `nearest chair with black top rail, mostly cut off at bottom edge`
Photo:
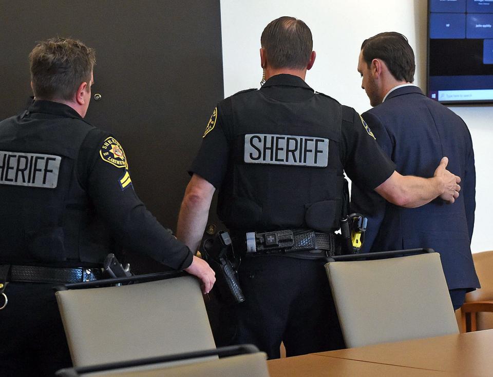
[[[221,359],[210,360],[210,356]],[[209,360],[203,360],[208,356]],[[61,369],[59,377],[269,377],[267,355],[253,345],[221,347],[157,358]],[[182,364],[177,365],[177,362]],[[170,365],[173,363],[173,365]]]

